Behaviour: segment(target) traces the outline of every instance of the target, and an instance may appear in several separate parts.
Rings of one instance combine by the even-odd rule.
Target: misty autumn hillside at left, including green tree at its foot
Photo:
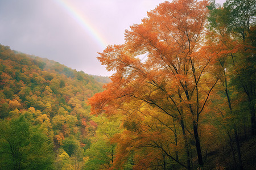
[[[80,169],[97,127],[87,99],[102,84],[1,45],[0,169]]]

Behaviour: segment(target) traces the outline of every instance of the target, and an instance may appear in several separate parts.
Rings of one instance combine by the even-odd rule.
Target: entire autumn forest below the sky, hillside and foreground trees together
[[[1,45],[0,169],[254,169],[255,23],[166,1],[98,53],[110,80]]]

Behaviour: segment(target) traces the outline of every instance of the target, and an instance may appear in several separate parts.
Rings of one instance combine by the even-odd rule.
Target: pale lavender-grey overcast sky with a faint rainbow
[[[125,29],[164,1],[0,0],[0,44],[87,74],[110,76],[113,72],[101,65],[97,52],[123,44]]]

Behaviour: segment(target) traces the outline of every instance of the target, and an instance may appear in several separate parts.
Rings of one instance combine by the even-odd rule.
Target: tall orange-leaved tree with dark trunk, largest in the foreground
[[[148,12],[142,24],[126,30],[125,44],[100,53],[98,59],[116,73],[107,90],[90,99],[94,113],[102,109],[111,113],[124,102],[138,100],[175,118],[184,135],[186,129],[193,131],[201,167],[200,114],[219,78],[212,49],[203,41],[207,5],[207,1],[164,2]],[[188,169],[189,155],[187,148]]]

